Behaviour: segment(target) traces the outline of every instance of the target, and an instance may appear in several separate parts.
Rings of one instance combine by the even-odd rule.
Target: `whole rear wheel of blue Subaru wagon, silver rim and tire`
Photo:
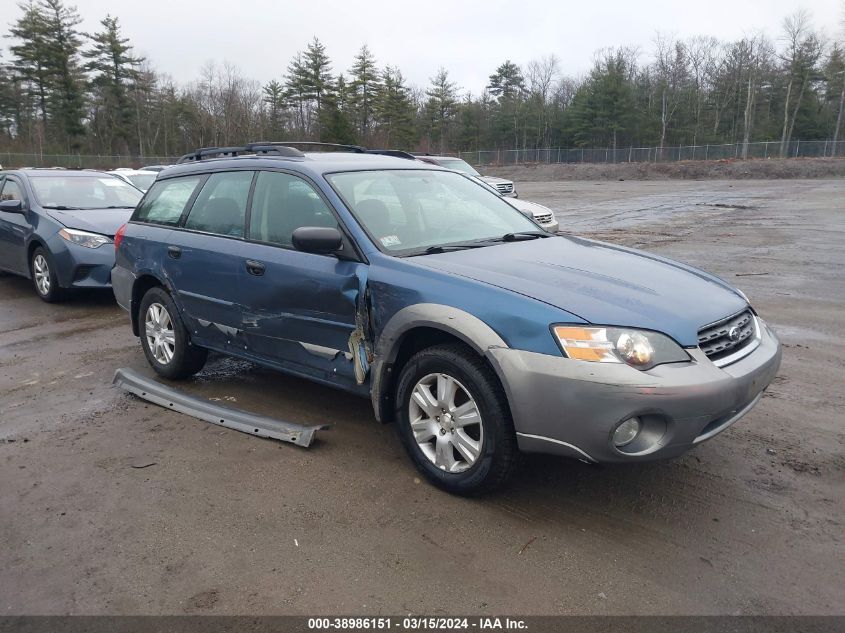
[[[139,308],[141,347],[161,376],[193,376],[205,365],[208,351],[191,344],[173,299],[163,288],[150,288]]]

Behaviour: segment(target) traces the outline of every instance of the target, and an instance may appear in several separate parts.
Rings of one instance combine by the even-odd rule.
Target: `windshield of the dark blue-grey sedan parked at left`
[[[30,181],[38,203],[45,209],[129,208],[143,195],[113,176],[39,176]]]

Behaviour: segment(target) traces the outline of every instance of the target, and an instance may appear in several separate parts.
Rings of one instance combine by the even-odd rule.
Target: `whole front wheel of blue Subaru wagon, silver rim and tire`
[[[517,456],[510,408],[472,350],[440,345],[414,355],[399,375],[396,406],[402,444],[435,485],[475,495],[510,476]]]

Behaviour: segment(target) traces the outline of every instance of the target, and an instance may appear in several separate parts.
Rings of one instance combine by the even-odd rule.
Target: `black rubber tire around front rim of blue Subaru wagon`
[[[418,382],[431,374],[457,380],[464,393],[475,401],[481,415],[480,452],[475,462],[462,472],[447,472],[435,465],[411,429],[411,396]],[[514,470],[518,449],[507,398],[492,369],[465,345],[438,345],[411,357],[396,385],[396,420],[399,437],[416,467],[430,482],[448,492],[465,496],[489,492],[504,484]],[[440,435],[447,433],[450,431],[438,431]],[[437,445],[436,437],[434,445]],[[460,457],[457,450],[448,450]]]

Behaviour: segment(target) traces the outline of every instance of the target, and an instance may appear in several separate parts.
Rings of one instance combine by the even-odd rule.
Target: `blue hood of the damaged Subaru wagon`
[[[574,237],[503,243],[414,261],[531,297],[589,323],[663,332],[685,347],[698,345],[702,326],[747,306],[715,275],[650,253]]]

